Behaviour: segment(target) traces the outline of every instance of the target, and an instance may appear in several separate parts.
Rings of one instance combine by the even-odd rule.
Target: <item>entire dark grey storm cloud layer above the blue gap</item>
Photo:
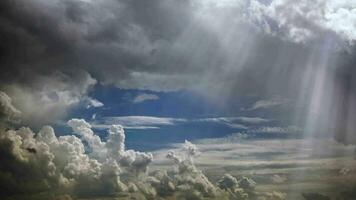
[[[39,107],[21,99],[42,105],[66,94],[60,108],[47,106],[62,111],[51,119],[87,98],[96,82],[190,89],[224,105],[243,95],[305,96],[298,106],[308,107],[313,76],[320,66],[332,69],[337,48],[355,39],[352,23],[341,23],[354,14],[345,2],[318,1],[320,9],[310,5],[301,15],[310,3],[283,9],[288,2],[4,0],[0,86],[20,110]]]

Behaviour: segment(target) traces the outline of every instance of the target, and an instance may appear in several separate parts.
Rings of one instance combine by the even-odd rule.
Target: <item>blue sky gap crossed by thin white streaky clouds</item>
[[[280,98],[240,97],[234,104],[221,105],[194,91],[154,92],[99,84],[89,95],[102,105],[79,106],[68,119],[85,119],[102,138],[110,125],[121,124],[127,146],[137,150],[236,133],[255,139],[299,138],[302,134],[300,127],[281,118],[280,113],[290,106]]]

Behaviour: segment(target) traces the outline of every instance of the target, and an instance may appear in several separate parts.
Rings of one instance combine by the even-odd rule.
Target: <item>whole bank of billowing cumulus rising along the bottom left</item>
[[[148,172],[150,153],[125,149],[121,125],[112,125],[106,141],[101,141],[84,120],[68,122],[79,135],[56,136],[50,126],[38,133],[29,128],[7,130],[0,134],[0,196],[59,194],[58,198],[127,196],[156,199],[253,199],[261,196],[256,183],[242,177],[225,175],[215,186],[194,165],[200,155],[196,145],[186,141],[167,158],[175,171]],[[99,149],[100,148],[100,149]],[[16,166],[15,168],[12,166]],[[37,195],[37,196],[36,196]],[[247,198],[249,197],[249,198]]]

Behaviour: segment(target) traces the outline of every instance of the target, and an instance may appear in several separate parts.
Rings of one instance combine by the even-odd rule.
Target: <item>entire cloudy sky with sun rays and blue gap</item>
[[[218,181],[224,173],[238,174],[239,158],[257,166],[264,158],[280,163],[284,155],[290,162],[306,159],[306,168],[308,159],[319,164],[323,156],[330,162],[341,159],[345,165],[330,165],[320,174],[341,169],[355,174],[355,0],[3,0],[0,27],[0,161],[5,163],[0,164],[0,182],[23,186],[6,188],[0,197],[21,199],[13,196],[21,191],[36,199],[36,191],[53,192],[58,185],[60,198],[112,195],[127,192],[123,188],[132,184],[148,191],[153,187],[147,185],[153,177],[148,165],[165,168],[162,155],[180,145],[187,155],[167,157],[178,169],[189,165],[193,179],[205,177],[198,167],[207,179]],[[272,151],[274,142],[296,148],[277,145]],[[259,156],[249,157],[248,151],[235,157],[244,145],[253,149],[263,144],[265,148],[256,148]],[[224,161],[206,162],[215,156],[211,151],[224,155],[225,145],[232,146],[231,156],[226,155],[234,166],[230,171]],[[195,148],[203,154],[196,164]],[[271,154],[262,155],[264,151]],[[38,171],[42,159],[48,162],[48,174]],[[75,165],[82,168],[71,169]],[[258,165],[256,173],[271,175],[267,179],[274,177],[278,184],[287,177],[288,183],[300,181],[303,187],[272,186],[283,194],[269,194],[271,185],[262,178],[257,188],[268,194],[244,188],[250,199],[302,198],[308,181],[314,180],[289,181],[297,172],[308,177],[309,168],[293,171],[288,165],[275,172],[267,166],[271,171],[266,173],[260,170],[264,166]],[[93,177],[90,168],[97,169],[93,185],[111,185],[110,173],[120,184],[90,194],[82,184]],[[32,170],[26,180],[19,172],[24,169]],[[261,179],[251,170],[240,174]],[[125,178],[132,171],[146,174],[147,181]],[[327,177],[334,180],[334,175]],[[38,188],[27,187],[28,182]],[[329,187],[316,185],[308,192]],[[159,189],[152,191],[160,195]]]

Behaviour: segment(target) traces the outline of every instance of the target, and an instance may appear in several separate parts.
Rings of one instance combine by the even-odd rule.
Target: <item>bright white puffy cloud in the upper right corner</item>
[[[265,15],[278,24],[276,32],[305,42],[336,34],[340,39],[356,40],[356,1],[351,0],[275,0],[265,7]]]

